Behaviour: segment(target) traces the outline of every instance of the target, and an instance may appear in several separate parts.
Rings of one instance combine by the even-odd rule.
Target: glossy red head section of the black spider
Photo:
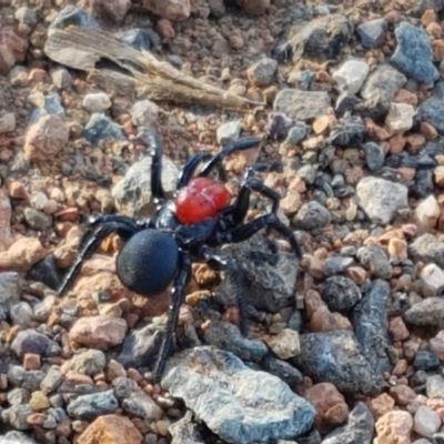
[[[222,183],[210,178],[195,178],[179,190],[174,200],[175,216],[183,225],[199,223],[215,218],[230,200],[231,194]]]

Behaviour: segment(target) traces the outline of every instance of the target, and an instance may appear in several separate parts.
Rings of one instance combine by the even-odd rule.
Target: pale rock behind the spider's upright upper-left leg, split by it
[[[151,194],[151,163],[147,157],[133,163],[124,178],[118,182],[111,193],[121,214],[129,218],[149,218],[155,205]],[[162,157],[162,186],[168,196],[172,196],[179,176],[179,169],[173,161]]]

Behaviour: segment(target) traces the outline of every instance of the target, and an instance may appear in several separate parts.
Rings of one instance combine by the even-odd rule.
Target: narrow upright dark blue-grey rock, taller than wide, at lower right
[[[363,355],[377,374],[391,372],[389,359],[389,320],[387,303],[390,285],[382,280],[369,284],[364,296],[354,306],[351,321]]]

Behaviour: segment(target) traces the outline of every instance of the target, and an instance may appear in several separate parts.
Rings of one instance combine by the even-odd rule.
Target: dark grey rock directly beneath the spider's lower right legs
[[[254,307],[276,313],[292,304],[297,279],[295,256],[279,251],[265,233],[228,245],[222,253],[229,254],[239,266],[245,283],[243,291]],[[215,300],[225,305],[236,304],[231,280],[222,280]]]

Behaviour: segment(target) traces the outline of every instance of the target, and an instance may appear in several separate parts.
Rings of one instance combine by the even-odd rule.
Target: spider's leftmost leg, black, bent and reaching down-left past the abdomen
[[[74,263],[68,270],[63,281],[57,292],[58,296],[61,296],[69,285],[79,275],[83,261],[90,259],[94,251],[99,248],[102,241],[113,232],[118,232],[122,239],[128,239],[140,229],[133,229],[128,226],[125,223],[108,222],[100,226],[95,231],[88,230],[80,241],[78,254]]]

